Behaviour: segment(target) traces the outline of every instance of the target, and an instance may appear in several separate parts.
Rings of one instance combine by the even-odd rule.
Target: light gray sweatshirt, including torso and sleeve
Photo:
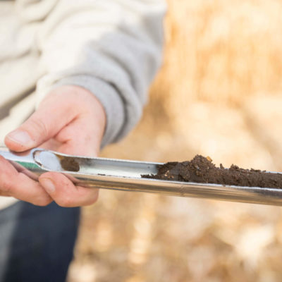
[[[0,1],[0,105],[79,85],[106,111],[102,146],[120,140],[161,64],[165,10],[162,0]]]

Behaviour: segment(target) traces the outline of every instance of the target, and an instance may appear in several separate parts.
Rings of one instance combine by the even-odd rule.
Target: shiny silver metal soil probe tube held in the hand
[[[157,173],[159,163],[72,157],[42,149],[32,149],[25,154],[14,154],[3,147],[0,147],[0,155],[11,161],[19,171],[34,179],[46,171],[58,171],[66,174],[75,184],[88,188],[152,192],[181,197],[282,206],[282,189],[141,178],[142,174]],[[64,169],[62,160],[74,161],[78,171],[68,171],[66,167]]]

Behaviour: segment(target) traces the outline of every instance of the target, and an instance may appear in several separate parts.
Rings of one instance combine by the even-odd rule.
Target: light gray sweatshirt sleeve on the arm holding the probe
[[[102,146],[121,139],[161,64],[165,10],[162,0],[56,1],[36,36],[45,73],[38,101],[54,87],[84,87],[106,111]]]

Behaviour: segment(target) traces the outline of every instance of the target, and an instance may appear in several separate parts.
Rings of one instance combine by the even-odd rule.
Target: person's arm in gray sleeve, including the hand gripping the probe
[[[37,85],[42,102],[6,145],[96,156],[101,142],[120,139],[140,118],[161,63],[164,3],[61,0],[50,11],[36,37],[46,73]],[[60,173],[44,173],[39,183],[0,159],[0,195],[63,207],[97,200],[97,190]]]

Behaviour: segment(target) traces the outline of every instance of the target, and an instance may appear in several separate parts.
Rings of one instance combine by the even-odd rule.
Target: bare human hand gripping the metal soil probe
[[[42,147],[97,157],[105,125],[104,108],[91,92],[78,86],[63,86],[49,93],[37,111],[6,136],[5,143],[15,152]],[[62,207],[78,207],[96,202],[98,191],[75,186],[56,172],[43,173],[37,182],[0,156],[0,195],[39,206],[54,200]]]

